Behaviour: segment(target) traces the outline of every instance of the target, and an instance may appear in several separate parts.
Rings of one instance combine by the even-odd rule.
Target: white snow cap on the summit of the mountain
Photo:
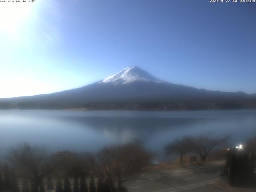
[[[166,81],[160,80],[160,79],[150,75],[148,72],[142,70],[139,67],[131,66],[131,67],[127,67],[127,68],[121,70],[117,74],[114,74],[112,76],[109,76],[109,77],[101,80],[100,82],[98,82],[98,84],[113,83],[115,85],[120,85],[120,84],[135,82],[135,81],[154,82],[154,83],[158,83],[158,84],[168,83]]]

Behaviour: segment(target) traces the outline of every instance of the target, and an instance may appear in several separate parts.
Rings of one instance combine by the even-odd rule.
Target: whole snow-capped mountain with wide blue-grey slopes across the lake
[[[52,94],[2,98],[12,106],[25,103],[30,106],[71,106],[74,103],[116,102],[244,102],[255,101],[255,94],[220,92],[172,84],[160,80],[132,66],[93,84]],[[79,105],[80,105],[79,104]]]

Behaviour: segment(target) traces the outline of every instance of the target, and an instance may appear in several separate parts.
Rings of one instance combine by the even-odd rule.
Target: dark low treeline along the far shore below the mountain
[[[0,109],[210,110],[256,109],[256,100],[216,102],[4,102]]]

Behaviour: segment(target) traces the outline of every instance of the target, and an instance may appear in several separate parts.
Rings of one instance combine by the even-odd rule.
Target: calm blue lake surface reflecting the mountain
[[[21,142],[50,150],[97,151],[141,139],[163,158],[164,146],[184,135],[230,134],[231,144],[256,136],[256,110],[69,111],[0,110],[0,152]]]

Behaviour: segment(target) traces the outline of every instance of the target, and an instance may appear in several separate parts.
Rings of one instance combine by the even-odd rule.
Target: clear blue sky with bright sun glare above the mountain
[[[138,66],[176,84],[256,92],[256,3],[0,4],[0,98],[77,88]]]

